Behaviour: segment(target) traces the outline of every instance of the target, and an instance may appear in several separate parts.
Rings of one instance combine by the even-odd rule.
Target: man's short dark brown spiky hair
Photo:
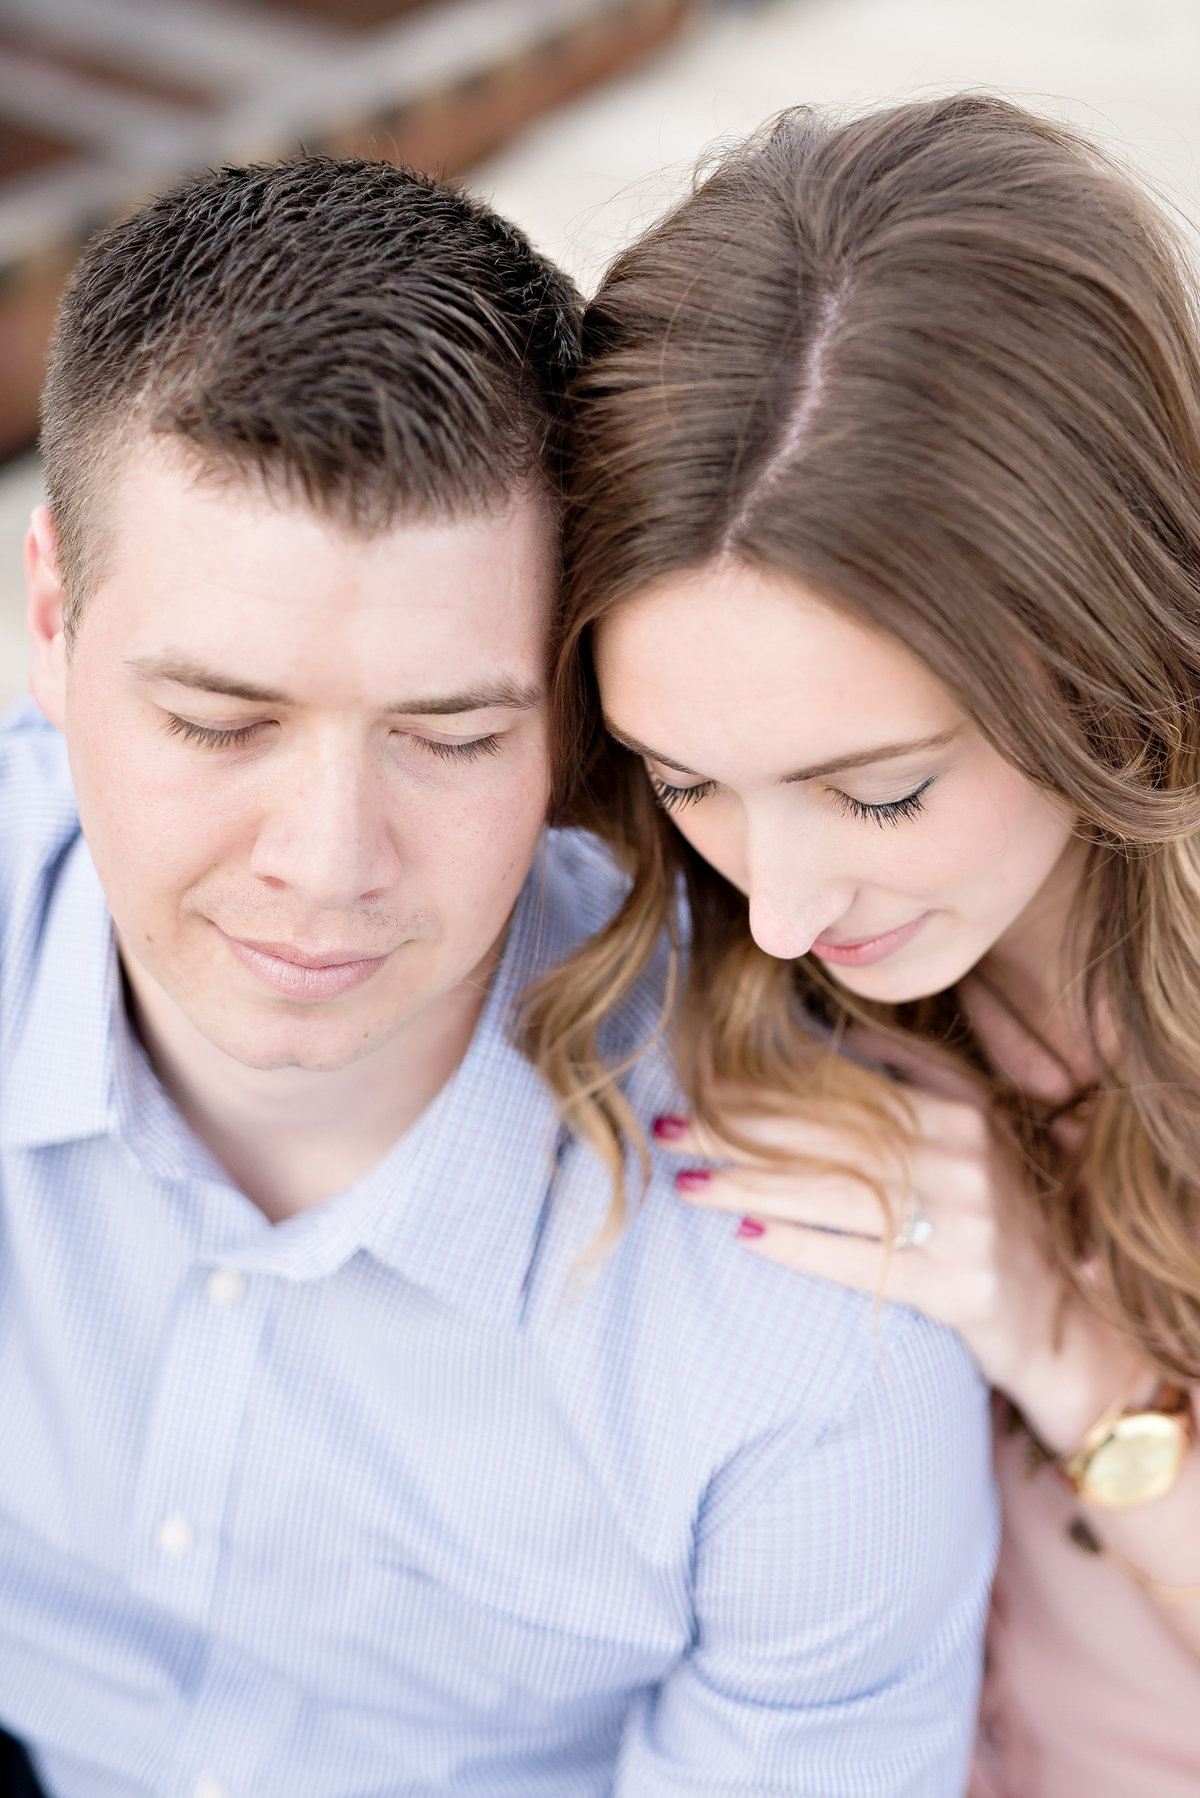
[[[506,219],[387,162],[191,176],[83,252],[41,399],[68,629],[140,433],[353,529],[554,482],[578,295]]]

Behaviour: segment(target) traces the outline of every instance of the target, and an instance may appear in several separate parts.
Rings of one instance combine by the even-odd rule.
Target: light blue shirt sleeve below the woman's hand
[[[714,1482],[693,1647],[630,1715],[619,1798],[963,1798],[997,1548],[988,1402],[955,1336],[885,1313],[835,1424]]]

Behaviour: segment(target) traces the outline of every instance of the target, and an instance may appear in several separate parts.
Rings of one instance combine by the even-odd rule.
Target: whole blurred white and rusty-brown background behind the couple
[[[0,0],[0,707],[45,338],[104,219],[304,144],[464,174],[588,289],[781,106],[961,86],[1088,129],[1200,219],[1200,0]]]

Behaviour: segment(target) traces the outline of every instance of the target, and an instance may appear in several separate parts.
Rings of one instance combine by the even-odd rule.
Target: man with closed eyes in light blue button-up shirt
[[[322,158],[67,295],[0,734],[0,1721],[52,1798],[961,1785],[964,1352],[666,1172],[581,1280],[608,1181],[509,1043],[615,903],[543,832],[574,333],[486,209]]]

